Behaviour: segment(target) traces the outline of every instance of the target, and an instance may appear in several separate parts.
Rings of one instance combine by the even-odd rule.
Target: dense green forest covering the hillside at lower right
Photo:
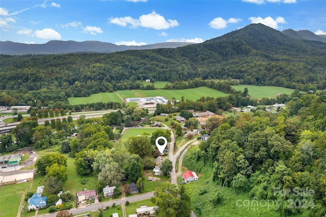
[[[278,114],[258,110],[212,121],[210,138],[188,152],[184,164],[199,173],[211,168],[206,182],[225,190],[202,192],[202,187],[199,195],[192,194],[194,208],[198,201],[203,213],[236,206],[236,198],[234,204],[222,202],[233,189],[234,195],[247,193],[251,202],[277,202],[282,216],[326,214],[325,92],[290,100]],[[220,202],[206,200],[208,192]],[[248,206],[255,212],[263,208],[260,205]]]

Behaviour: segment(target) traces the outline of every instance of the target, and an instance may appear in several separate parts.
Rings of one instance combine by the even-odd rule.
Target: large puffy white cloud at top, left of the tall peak
[[[166,20],[163,16],[156,14],[153,11],[150,14],[144,14],[139,17],[139,19],[134,19],[130,16],[127,17],[111,17],[108,18],[110,23],[127,26],[128,24],[131,25],[132,28],[142,26],[147,28],[153,28],[156,30],[159,29],[168,29],[171,27],[178,26],[179,23],[177,20],[168,19]]]

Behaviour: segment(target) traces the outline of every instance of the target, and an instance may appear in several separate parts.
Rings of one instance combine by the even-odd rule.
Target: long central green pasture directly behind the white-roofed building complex
[[[155,90],[117,90],[118,94],[122,98],[133,98],[133,97],[165,97],[172,100],[174,97],[176,100],[181,100],[183,96],[184,99],[197,100],[201,97],[226,97],[228,94],[224,92],[214,90],[208,87],[197,87],[191,89],[155,89]]]

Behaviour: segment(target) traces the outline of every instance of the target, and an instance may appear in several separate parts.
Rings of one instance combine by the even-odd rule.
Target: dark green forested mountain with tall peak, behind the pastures
[[[62,89],[67,97],[135,89],[141,79],[234,78],[243,84],[326,88],[326,43],[251,24],[201,44],[114,53],[1,55],[0,88]]]

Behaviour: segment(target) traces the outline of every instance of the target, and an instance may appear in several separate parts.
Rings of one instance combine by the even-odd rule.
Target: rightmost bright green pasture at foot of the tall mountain
[[[241,91],[246,87],[249,91],[248,94],[252,98],[276,98],[277,94],[290,95],[294,91],[294,89],[276,86],[232,85],[232,88]]]

